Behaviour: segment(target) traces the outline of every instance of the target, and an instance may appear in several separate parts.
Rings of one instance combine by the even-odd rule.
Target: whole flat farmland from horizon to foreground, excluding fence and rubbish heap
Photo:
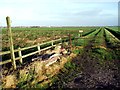
[[[83,31],[82,35],[80,31]],[[15,49],[68,38],[69,34],[72,47],[63,42],[67,54],[48,67],[42,60],[32,61],[31,58],[25,58],[29,63],[19,64],[16,71],[5,67],[3,88],[120,88],[120,31],[117,27],[12,28],[12,32]],[[5,28],[2,36],[2,49],[7,51]]]

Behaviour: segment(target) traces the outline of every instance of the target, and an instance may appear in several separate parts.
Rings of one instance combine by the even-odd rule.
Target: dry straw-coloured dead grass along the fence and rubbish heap
[[[74,56],[74,54],[71,54],[70,57]],[[16,86],[25,81],[29,82],[33,87],[37,84],[37,82],[45,80],[47,83],[50,80],[49,78],[59,73],[60,69],[64,67],[64,64],[68,61],[68,59],[70,59],[70,57],[61,57],[60,61],[57,61],[50,66],[45,66],[47,64],[46,61],[34,61],[22,70],[17,71],[19,75],[17,75],[18,73],[14,73],[13,75],[3,77],[2,88],[16,88]],[[33,80],[31,80],[31,78],[33,78]],[[24,84],[22,83],[19,86],[24,86]]]

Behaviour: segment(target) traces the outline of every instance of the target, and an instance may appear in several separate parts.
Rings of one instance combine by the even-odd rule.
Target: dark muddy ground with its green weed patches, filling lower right
[[[58,80],[48,89],[120,88],[120,50],[92,48],[93,43],[94,40],[84,48],[83,53],[73,58],[71,68],[61,71],[57,75]]]

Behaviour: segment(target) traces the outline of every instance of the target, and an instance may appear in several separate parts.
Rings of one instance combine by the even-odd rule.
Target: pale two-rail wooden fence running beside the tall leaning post
[[[37,54],[37,53],[40,54],[41,51],[44,51],[44,50],[50,49],[52,47],[55,47],[56,46],[56,44],[54,44],[55,42],[58,42],[57,44],[62,44],[61,41],[62,41],[62,39],[60,38],[60,39],[57,39],[57,40],[52,40],[52,41],[41,43],[41,44],[38,43],[37,45],[33,45],[33,46],[30,46],[30,47],[25,47],[25,48],[20,48],[19,47],[18,49],[14,50],[14,53],[18,52],[18,55],[19,55],[18,57],[15,58],[15,61],[19,60],[20,63],[23,63],[23,61],[22,61],[23,58],[26,58],[28,56],[31,56],[31,55],[34,55],[34,54]],[[40,48],[42,45],[46,45],[46,44],[50,44],[50,46],[44,47],[42,49]],[[29,50],[29,49],[32,49],[32,48],[37,48],[37,51],[34,51],[32,53],[29,53],[29,54],[22,55],[22,51]],[[1,56],[5,55],[5,54],[10,54],[10,51],[0,52]],[[7,64],[7,63],[10,63],[10,62],[12,62],[11,59],[5,60],[5,61],[0,62],[0,65]]]

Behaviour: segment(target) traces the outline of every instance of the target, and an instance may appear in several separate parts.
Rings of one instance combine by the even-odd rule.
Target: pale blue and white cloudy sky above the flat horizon
[[[119,0],[1,0],[0,26],[118,25]]]

